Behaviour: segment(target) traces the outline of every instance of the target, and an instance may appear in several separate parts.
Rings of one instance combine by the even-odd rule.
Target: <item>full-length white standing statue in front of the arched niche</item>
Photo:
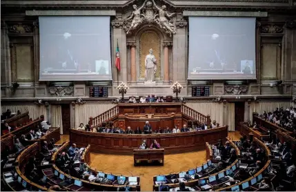
[[[152,54],[153,50],[150,48],[149,54],[145,58],[145,81],[152,82],[154,81],[154,76],[157,70],[156,59]]]

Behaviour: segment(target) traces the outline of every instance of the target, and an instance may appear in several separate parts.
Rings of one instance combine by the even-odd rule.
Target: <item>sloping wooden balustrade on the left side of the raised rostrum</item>
[[[101,113],[97,117],[90,117],[90,121],[88,124],[90,126],[99,126],[103,122],[108,122],[111,118],[116,117],[119,113],[119,107],[114,106],[110,108],[108,111]]]

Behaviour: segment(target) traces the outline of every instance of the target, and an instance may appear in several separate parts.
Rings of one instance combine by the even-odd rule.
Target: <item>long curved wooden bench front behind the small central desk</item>
[[[92,146],[92,152],[106,153],[130,153],[134,148],[139,148],[142,140],[146,140],[148,146],[153,140],[159,142],[165,153],[179,152],[180,150],[195,151],[205,148],[205,142],[216,142],[227,137],[228,126],[212,128],[203,131],[168,134],[115,134],[93,133],[70,129],[70,141],[78,146]]]

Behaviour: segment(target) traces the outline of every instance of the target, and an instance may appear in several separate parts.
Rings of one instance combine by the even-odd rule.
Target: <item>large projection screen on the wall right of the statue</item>
[[[188,79],[256,79],[255,22],[189,17]]]

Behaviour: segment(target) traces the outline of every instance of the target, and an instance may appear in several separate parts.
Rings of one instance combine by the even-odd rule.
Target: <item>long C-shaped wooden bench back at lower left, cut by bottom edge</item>
[[[32,182],[31,180],[29,180],[26,177],[26,175],[23,175],[23,173],[20,169],[20,166],[21,166],[21,164],[23,164],[23,161],[24,161],[23,158],[25,158],[23,156],[26,156],[27,153],[30,153],[30,155],[33,155],[31,150],[34,151],[33,153],[37,153],[37,151],[38,151],[38,143],[37,142],[28,146],[28,148],[25,148],[17,157],[17,161],[16,161],[17,166],[15,167],[15,170],[17,171],[17,175],[21,176],[22,180],[25,180],[28,184],[31,184],[32,186],[36,187],[37,189],[41,189],[42,191],[48,191],[48,189],[46,187],[36,184],[36,183]],[[23,161],[20,162],[21,160],[23,160]],[[26,158],[25,158],[25,160],[26,160]]]

